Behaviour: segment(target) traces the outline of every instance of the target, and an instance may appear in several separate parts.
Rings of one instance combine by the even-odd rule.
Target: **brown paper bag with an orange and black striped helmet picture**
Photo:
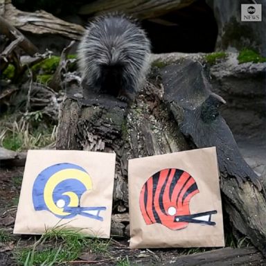
[[[223,247],[215,148],[129,161],[130,247]]]

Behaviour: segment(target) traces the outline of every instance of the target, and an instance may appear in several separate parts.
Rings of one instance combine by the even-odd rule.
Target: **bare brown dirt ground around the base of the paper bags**
[[[23,167],[0,168],[0,229],[5,229],[9,233],[12,233],[15,222],[23,172]],[[17,265],[12,252],[17,245],[26,247],[32,244],[32,236],[14,236],[12,241],[0,245],[0,265]],[[85,250],[79,258],[80,261],[85,260],[85,263],[75,262],[66,265],[170,265],[175,263],[182,251],[184,252],[182,249],[129,249],[128,239],[114,238],[109,246],[108,256],[91,256],[91,253]]]

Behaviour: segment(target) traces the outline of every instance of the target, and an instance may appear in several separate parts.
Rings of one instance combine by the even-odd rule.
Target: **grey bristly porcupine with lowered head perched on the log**
[[[109,13],[91,21],[78,46],[83,96],[87,90],[134,100],[149,70],[150,41],[131,17]]]

